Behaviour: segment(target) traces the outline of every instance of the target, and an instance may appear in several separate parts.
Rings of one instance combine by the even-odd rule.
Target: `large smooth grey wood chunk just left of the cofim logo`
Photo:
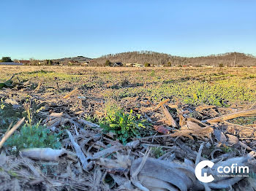
[[[142,160],[138,158],[132,163],[131,174],[137,171]],[[147,178],[151,179],[151,182],[147,182]],[[138,181],[143,182],[143,185],[150,190],[157,188],[163,190],[175,186],[181,191],[187,191],[195,181],[195,173],[194,168],[189,165],[148,158],[138,174]],[[161,186],[159,182],[165,182],[165,184]]]

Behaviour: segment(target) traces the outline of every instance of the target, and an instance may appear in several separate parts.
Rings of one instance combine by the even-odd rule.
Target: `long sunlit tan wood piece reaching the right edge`
[[[256,109],[249,109],[249,110],[245,110],[245,111],[236,112],[233,114],[225,114],[220,117],[214,117],[214,118],[206,120],[206,121],[209,123],[224,122],[226,120],[232,120],[236,117],[246,117],[246,116],[252,116],[252,115],[256,115]]]

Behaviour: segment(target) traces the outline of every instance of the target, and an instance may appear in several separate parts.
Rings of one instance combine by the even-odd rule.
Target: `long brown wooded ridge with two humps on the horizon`
[[[104,65],[107,60],[112,63],[150,63],[154,65],[164,65],[170,62],[172,66],[256,66],[255,56],[238,52],[188,58],[159,52],[140,51],[103,55],[94,59],[99,65]]]

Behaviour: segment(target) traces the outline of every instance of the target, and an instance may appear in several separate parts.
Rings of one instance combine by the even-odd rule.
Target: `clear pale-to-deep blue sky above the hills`
[[[254,0],[1,0],[0,57],[256,55]]]

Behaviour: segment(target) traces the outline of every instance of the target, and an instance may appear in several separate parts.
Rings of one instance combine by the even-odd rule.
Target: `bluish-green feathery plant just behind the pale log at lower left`
[[[60,149],[61,142],[59,135],[50,133],[50,130],[39,125],[23,125],[20,132],[16,132],[4,143],[5,147],[11,147],[12,152],[18,152],[26,148],[44,148]]]

